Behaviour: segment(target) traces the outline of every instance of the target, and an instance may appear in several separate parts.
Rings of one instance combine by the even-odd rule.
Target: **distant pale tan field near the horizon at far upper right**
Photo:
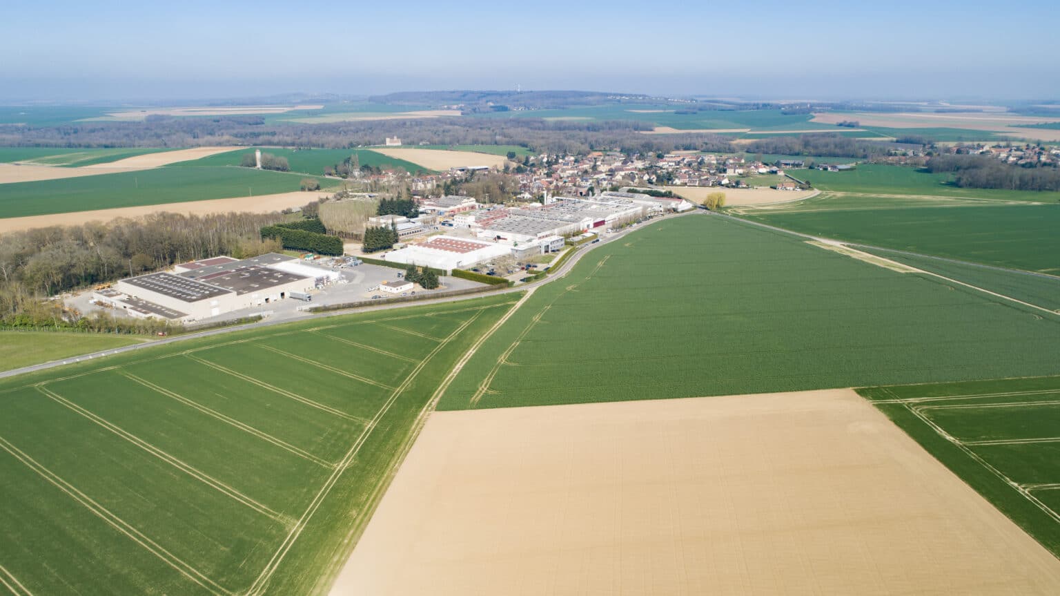
[[[1060,141],[1060,130],[1049,128],[1022,128],[1020,125],[1041,122],[1060,122],[1060,118],[1048,116],[1014,116],[1008,113],[983,112],[899,112],[899,113],[815,113],[811,122],[835,124],[843,120],[856,119],[862,126],[883,126],[886,128],[961,128],[966,130],[989,130],[1005,133],[1011,137]],[[853,130],[854,128],[851,128]]]

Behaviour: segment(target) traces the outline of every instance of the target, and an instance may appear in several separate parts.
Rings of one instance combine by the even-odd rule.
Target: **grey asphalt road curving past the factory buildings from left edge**
[[[358,309],[350,309],[350,310],[346,310],[346,311],[332,311],[332,312],[328,312],[328,313],[320,313],[320,314],[310,315],[307,317],[300,318],[298,320],[308,320],[310,318],[324,319],[324,318],[329,318],[329,317],[337,317],[337,316],[342,316],[342,315],[349,315],[349,314],[352,314],[352,313],[367,313],[367,312],[373,312],[373,311],[389,311],[389,310],[392,310],[392,309],[405,309],[405,308],[408,308],[408,306],[419,306],[419,305],[424,305],[424,304],[440,304],[440,303],[444,303],[444,302],[459,302],[459,301],[462,301],[462,300],[473,300],[475,298],[481,298],[483,296],[495,296],[497,294],[512,294],[512,293],[523,292],[523,291],[525,291],[525,290],[527,290],[529,287],[533,287],[533,286],[536,286],[536,285],[544,285],[546,283],[549,283],[549,282],[551,282],[553,280],[556,280],[556,279],[565,276],[571,269],[571,267],[573,267],[579,261],[581,261],[581,259],[585,255],[588,255],[593,250],[593,248],[596,248],[596,247],[601,246],[603,244],[606,244],[608,242],[614,242],[614,241],[616,241],[616,240],[618,240],[620,238],[623,238],[625,234],[628,234],[630,232],[639,230],[643,226],[650,226],[652,224],[655,224],[657,222],[661,222],[664,220],[670,220],[672,217],[679,217],[682,215],[688,215],[688,214],[700,213],[700,212],[701,212],[700,210],[696,210],[696,211],[688,211],[686,213],[674,213],[674,214],[670,214],[670,215],[664,215],[661,217],[655,217],[655,218],[650,220],[649,222],[647,222],[644,224],[635,226],[633,228],[626,228],[625,230],[622,230],[622,231],[617,232],[617,233],[613,233],[613,234],[608,235],[606,239],[601,239],[599,243],[583,245],[582,248],[579,248],[578,251],[576,251],[575,255],[571,258],[567,259],[567,261],[560,266],[560,269],[558,271],[549,271],[551,275],[549,275],[548,277],[546,277],[544,279],[541,279],[541,280],[537,280],[537,281],[530,282],[530,283],[525,283],[523,285],[516,285],[514,287],[506,287],[506,288],[502,288],[502,290],[497,290],[495,292],[482,292],[482,293],[479,293],[479,294],[471,294],[471,295],[466,295],[466,296],[450,296],[450,297],[438,298],[438,299],[416,300],[413,302],[399,302],[399,303],[395,303],[395,304],[381,304],[378,306],[361,306],[361,308],[358,308]],[[288,323],[288,322],[293,322],[293,321],[290,319],[286,319],[286,320],[262,320],[262,321],[257,321],[257,322],[251,322],[251,323],[246,323],[246,325],[238,325],[238,326],[232,326],[232,327],[224,327],[224,328],[219,328],[219,329],[211,329],[211,330],[208,330],[208,331],[200,331],[200,332],[197,332],[197,333],[187,333],[187,334],[182,334],[182,335],[175,335],[173,337],[166,337],[164,339],[157,339],[155,341],[148,341],[146,344],[134,344],[131,346],[125,346],[125,347],[122,347],[122,348],[114,348],[112,350],[104,350],[102,352],[93,352],[93,353],[90,353],[90,354],[84,354],[84,355],[81,355],[81,356],[74,356],[74,357],[70,357],[70,358],[66,358],[66,360],[61,360],[61,361],[52,361],[52,362],[47,362],[47,363],[41,363],[41,364],[35,364],[35,365],[32,365],[32,366],[23,366],[21,368],[14,368],[12,370],[5,370],[5,371],[0,372],[0,379],[5,379],[5,378],[8,378],[8,376],[15,376],[15,375],[18,375],[18,374],[24,374],[26,372],[34,372],[34,371],[37,371],[37,370],[47,370],[49,368],[55,368],[57,366],[63,366],[63,365],[67,365],[67,364],[73,364],[73,363],[85,362],[85,361],[89,361],[89,360],[95,360],[95,358],[102,358],[102,357],[112,356],[114,354],[122,354],[122,353],[131,352],[131,351],[136,351],[136,350],[144,350],[144,349],[147,349],[147,348],[154,348],[156,346],[164,346],[166,344],[174,344],[174,343],[177,343],[177,341],[187,341],[189,339],[195,339],[197,337],[210,337],[211,335],[220,335],[220,334],[224,334],[224,333],[231,333],[233,331],[245,331],[245,330],[248,330],[248,329],[258,329],[258,328],[261,328],[261,327],[271,327],[271,326],[275,326],[275,325],[285,325],[285,323]]]

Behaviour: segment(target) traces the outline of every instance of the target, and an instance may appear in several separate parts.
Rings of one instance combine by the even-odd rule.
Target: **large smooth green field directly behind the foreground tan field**
[[[734,220],[585,255],[463,368],[443,409],[1060,373],[1060,316]]]

